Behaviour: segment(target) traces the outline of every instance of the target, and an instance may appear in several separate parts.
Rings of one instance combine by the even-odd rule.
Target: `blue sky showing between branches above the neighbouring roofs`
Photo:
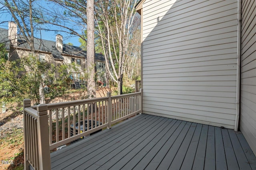
[[[1,5],[0,5],[0,8],[1,8]],[[3,21],[14,21],[14,19],[10,14],[0,14],[0,28],[8,29],[8,22],[2,23]],[[54,27],[56,26],[52,25],[53,29],[58,30],[58,27],[56,28]],[[44,30],[41,31],[42,39],[46,39],[49,41],[56,41],[57,34],[60,34],[63,36],[64,44],[72,43],[74,46],[77,46],[77,47],[81,45],[81,43],[78,41],[78,37],[69,37],[61,31],[44,31]],[[35,34],[34,37],[40,38],[40,34]]]

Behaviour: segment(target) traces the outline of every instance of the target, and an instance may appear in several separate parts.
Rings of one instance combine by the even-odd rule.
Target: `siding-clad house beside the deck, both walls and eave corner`
[[[143,113],[241,130],[256,154],[255,0],[141,0]]]

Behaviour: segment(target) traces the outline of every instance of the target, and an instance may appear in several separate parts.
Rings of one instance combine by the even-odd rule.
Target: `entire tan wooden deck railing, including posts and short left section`
[[[141,112],[140,92],[61,102],[30,105],[24,100],[25,169],[50,169],[50,150],[84,138],[103,128]],[[91,122],[85,123],[85,122]]]

